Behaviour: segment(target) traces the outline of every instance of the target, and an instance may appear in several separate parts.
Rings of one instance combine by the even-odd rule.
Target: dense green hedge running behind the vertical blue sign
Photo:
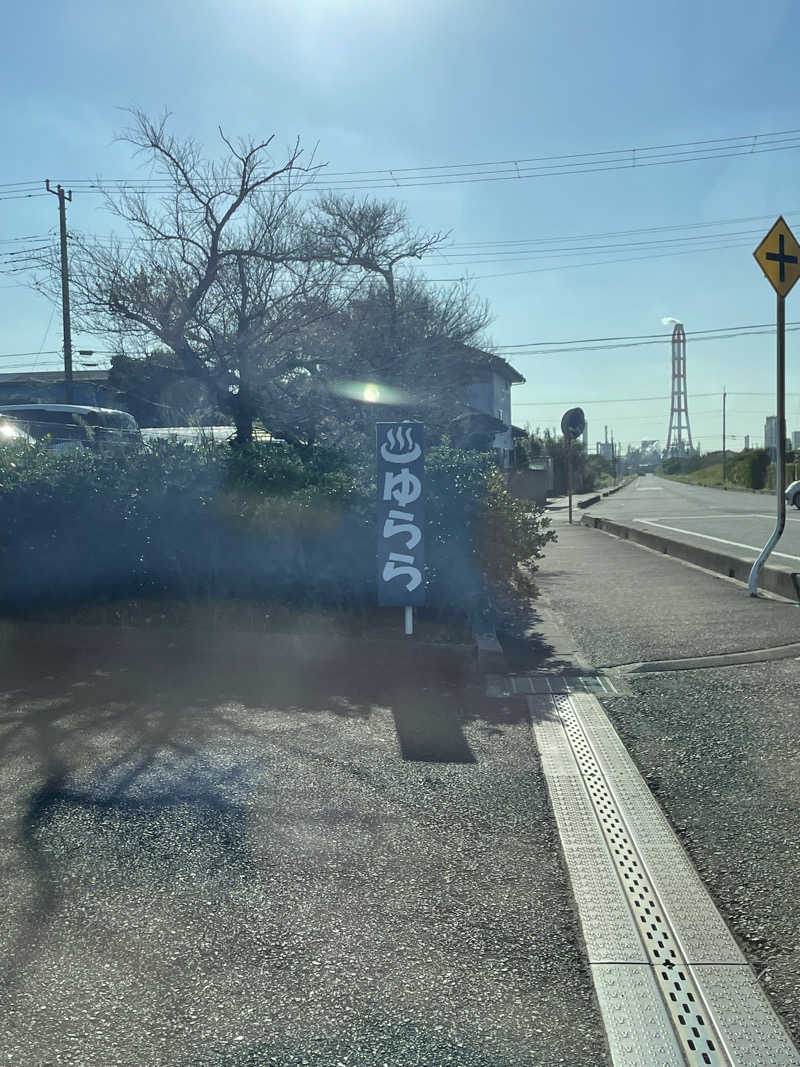
[[[497,595],[553,535],[491,459],[427,457],[428,602],[463,612]],[[341,455],[283,446],[125,455],[0,449],[0,596],[6,610],[142,595],[281,598],[364,609],[375,596],[374,475]]]

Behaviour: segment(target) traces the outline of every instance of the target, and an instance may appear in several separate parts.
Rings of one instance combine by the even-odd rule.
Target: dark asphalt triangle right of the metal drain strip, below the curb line
[[[631,681],[608,715],[800,1044],[797,660]]]

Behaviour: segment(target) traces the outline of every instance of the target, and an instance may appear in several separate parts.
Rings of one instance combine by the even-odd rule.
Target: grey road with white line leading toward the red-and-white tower
[[[704,489],[645,475],[595,505],[591,512],[755,559],[774,528],[775,497]],[[778,566],[800,570],[800,511],[790,505],[786,507],[786,529],[771,559]]]

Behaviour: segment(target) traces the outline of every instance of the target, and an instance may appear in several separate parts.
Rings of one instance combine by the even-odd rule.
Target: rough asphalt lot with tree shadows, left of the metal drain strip
[[[27,659],[0,1063],[606,1062],[519,706],[425,663]]]

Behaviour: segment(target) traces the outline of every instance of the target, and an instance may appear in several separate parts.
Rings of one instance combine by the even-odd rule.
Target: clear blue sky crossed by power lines
[[[238,134],[300,136],[331,171],[402,169],[645,147],[800,128],[794,87],[800,9],[791,0],[642,3],[631,0],[75,0],[15,5],[5,16],[0,182],[141,173],[114,136],[122,109],[173,113],[173,129],[211,152],[218,125]],[[772,336],[692,341],[692,330],[770,322],[774,297],[752,258],[770,217],[800,234],[800,149],[685,165],[397,190],[421,227],[452,241],[565,239],[655,226],[764,217],[709,227],[732,232],[718,251],[634,258],[641,237],[615,253],[508,262],[511,245],[482,258],[431,260],[431,278],[465,262],[494,313],[498,346],[654,334],[663,345],[589,353],[510,356],[526,376],[514,420],[555,425],[582,403],[590,436],[663,441],[669,333],[682,319],[695,439],[720,445],[723,385],[774,387]],[[46,233],[55,197],[0,201],[0,240]],[[98,198],[76,195],[69,224],[107,233]],[[751,233],[752,232],[752,233]],[[705,230],[663,232],[685,238]],[[650,235],[652,238],[652,235]],[[605,239],[608,243],[608,239]],[[702,243],[702,242],[701,242]],[[732,246],[722,248],[723,244]],[[0,244],[0,252],[14,250]],[[556,245],[558,246],[558,245]],[[683,251],[686,244],[663,245]],[[476,251],[473,249],[471,251]],[[576,266],[598,259],[605,266]],[[506,261],[503,261],[506,260]],[[451,264],[460,266],[451,266]],[[548,269],[543,270],[543,266]],[[556,269],[553,269],[556,268]],[[510,276],[489,276],[489,275]],[[60,349],[60,313],[0,275],[0,353]],[[798,290],[800,291],[800,290]],[[790,296],[787,319],[800,320]],[[49,330],[48,330],[49,324]],[[800,394],[800,334],[787,340],[787,388]],[[77,336],[75,346],[100,347]],[[50,357],[52,360],[52,357]],[[36,365],[45,367],[42,355]],[[3,369],[33,360],[2,360]],[[759,439],[769,396],[731,396],[729,432]],[[800,429],[800,395],[787,403]],[[740,445],[736,439],[732,444]]]

